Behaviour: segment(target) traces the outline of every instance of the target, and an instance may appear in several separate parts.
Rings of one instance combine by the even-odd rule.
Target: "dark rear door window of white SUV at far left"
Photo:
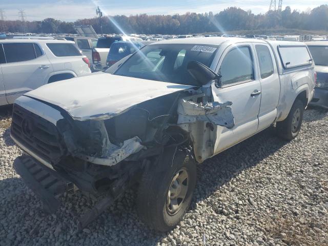
[[[11,43],[3,44],[7,63],[17,63],[35,59],[35,52],[32,43]]]

